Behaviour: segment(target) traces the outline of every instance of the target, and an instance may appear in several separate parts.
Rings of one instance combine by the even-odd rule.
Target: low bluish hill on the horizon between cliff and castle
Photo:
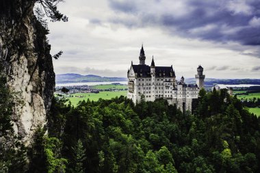
[[[66,73],[56,75],[56,83],[75,83],[75,82],[103,82],[103,81],[127,81],[125,77],[100,77],[97,75],[79,75]]]

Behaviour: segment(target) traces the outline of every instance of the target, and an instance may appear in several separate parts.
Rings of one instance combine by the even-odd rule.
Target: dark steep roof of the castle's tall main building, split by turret
[[[151,77],[151,67],[147,65],[132,65],[138,77]],[[170,73],[172,72],[172,76]],[[142,74],[142,75],[141,75]],[[155,77],[175,77],[172,66],[155,66]]]

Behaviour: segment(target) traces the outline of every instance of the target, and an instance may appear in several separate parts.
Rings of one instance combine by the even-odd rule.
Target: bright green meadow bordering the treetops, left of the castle
[[[75,93],[71,94],[73,97],[68,98],[72,105],[77,105],[79,101],[87,101],[90,98],[90,101],[98,101],[99,98],[103,99],[111,99],[116,96],[127,96],[127,91],[118,91],[118,92],[99,92],[98,94],[95,93]],[[76,96],[83,96],[83,97],[76,97]]]

